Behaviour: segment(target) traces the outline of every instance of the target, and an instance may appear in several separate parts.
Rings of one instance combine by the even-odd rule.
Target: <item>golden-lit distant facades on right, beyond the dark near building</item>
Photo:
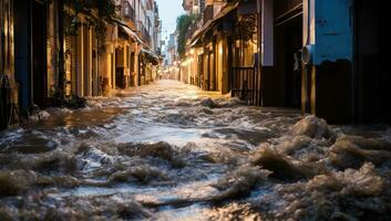
[[[206,1],[191,30],[185,61],[187,82],[206,91],[255,98],[256,1]],[[250,102],[250,101],[249,101]]]

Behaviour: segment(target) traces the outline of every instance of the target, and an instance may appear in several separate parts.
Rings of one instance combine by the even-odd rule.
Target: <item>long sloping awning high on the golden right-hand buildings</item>
[[[229,12],[234,11],[239,6],[239,3],[240,0],[228,2],[213,20],[207,21],[205,25],[194,34],[188,46],[196,46],[200,39],[204,38],[205,34],[212,30],[219,20],[229,14]]]

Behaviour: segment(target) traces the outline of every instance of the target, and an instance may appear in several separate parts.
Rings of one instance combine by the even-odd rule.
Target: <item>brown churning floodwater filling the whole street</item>
[[[0,220],[390,220],[391,129],[177,82],[0,134]]]

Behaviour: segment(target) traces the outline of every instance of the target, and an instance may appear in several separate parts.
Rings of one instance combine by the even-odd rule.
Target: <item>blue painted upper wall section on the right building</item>
[[[320,65],[325,61],[353,59],[353,0],[315,1],[315,56]]]

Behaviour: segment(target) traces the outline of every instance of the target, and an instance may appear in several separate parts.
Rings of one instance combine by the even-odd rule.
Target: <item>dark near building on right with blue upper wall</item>
[[[389,2],[259,0],[265,106],[330,123],[390,123]],[[383,18],[385,17],[385,18]]]

